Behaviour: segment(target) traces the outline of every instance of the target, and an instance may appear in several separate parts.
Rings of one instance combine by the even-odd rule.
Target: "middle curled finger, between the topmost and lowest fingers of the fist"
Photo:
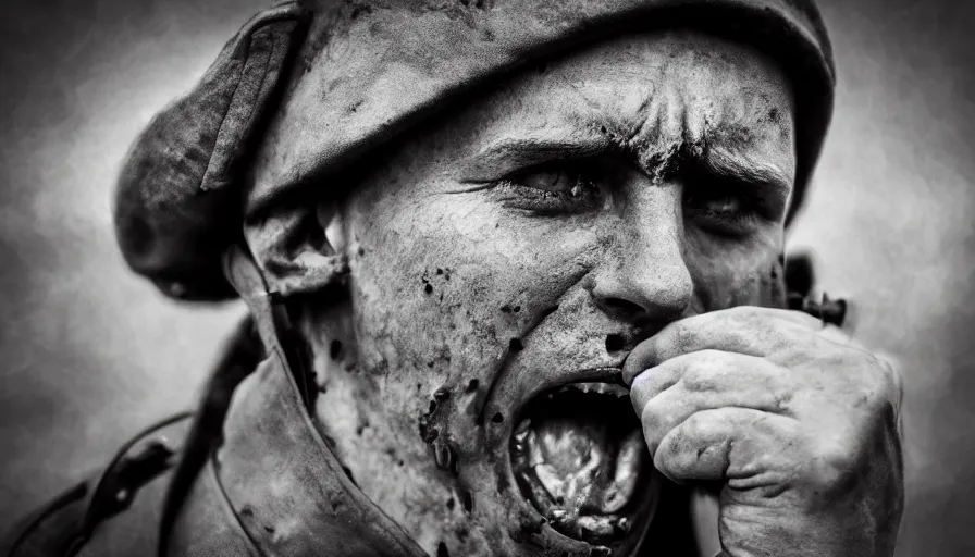
[[[778,366],[752,356],[716,351],[694,360],[672,386],[652,397],[641,388],[640,381],[634,383],[630,396],[651,454],[674,428],[703,410],[727,406],[791,413],[794,379]]]

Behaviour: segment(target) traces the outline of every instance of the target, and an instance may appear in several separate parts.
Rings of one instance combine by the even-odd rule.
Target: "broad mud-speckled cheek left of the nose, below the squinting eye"
[[[490,384],[598,243],[581,224],[513,216],[476,195],[394,201],[350,211],[354,323],[361,370],[396,386],[390,397],[410,393],[385,404],[415,416],[439,388]]]

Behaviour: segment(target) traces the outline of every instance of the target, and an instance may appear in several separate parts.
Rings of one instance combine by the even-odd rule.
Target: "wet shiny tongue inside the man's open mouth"
[[[579,417],[550,417],[527,428],[528,463],[567,518],[618,512],[637,488],[645,453],[640,430],[610,429]]]

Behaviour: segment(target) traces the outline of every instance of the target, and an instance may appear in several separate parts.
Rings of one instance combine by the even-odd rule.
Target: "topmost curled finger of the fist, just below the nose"
[[[675,321],[638,345],[624,362],[624,381],[631,382],[650,368],[699,350],[766,356],[822,326],[805,313],[773,308],[742,306],[702,313]]]

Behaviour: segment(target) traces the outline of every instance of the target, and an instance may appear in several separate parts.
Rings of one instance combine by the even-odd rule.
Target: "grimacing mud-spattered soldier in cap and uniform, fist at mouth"
[[[116,203],[251,318],[7,554],[701,555],[700,488],[723,555],[892,555],[900,382],[785,284],[832,89],[811,0],[258,14]]]

